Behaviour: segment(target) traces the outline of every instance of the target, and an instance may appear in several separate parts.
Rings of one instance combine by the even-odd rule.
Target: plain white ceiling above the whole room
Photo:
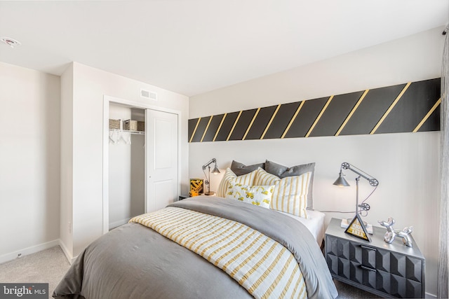
[[[448,0],[0,1],[0,61],[69,62],[192,96],[449,21]]]

